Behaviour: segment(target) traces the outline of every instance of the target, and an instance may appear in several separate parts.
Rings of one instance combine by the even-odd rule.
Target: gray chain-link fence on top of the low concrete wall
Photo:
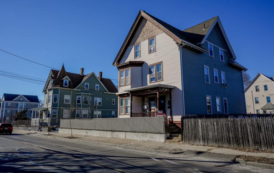
[[[61,119],[60,128],[164,134],[166,123],[165,117]]]

